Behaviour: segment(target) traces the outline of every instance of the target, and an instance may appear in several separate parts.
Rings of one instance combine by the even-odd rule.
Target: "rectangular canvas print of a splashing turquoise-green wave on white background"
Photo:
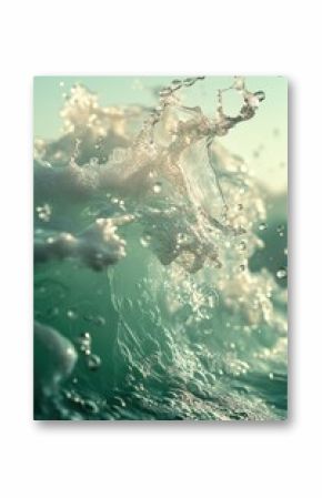
[[[286,83],[246,79],[265,100],[209,161],[180,105],[212,125],[233,80],[170,95],[151,142],[171,80],[36,79],[37,419],[286,417]]]

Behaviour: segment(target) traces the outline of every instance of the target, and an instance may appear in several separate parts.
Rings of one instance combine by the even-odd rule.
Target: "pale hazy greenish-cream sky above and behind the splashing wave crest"
[[[153,88],[168,85],[173,78],[182,77],[37,77],[34,79],[34,136],[56,139],[61,133],[59,115],[63,93],[74,83],[82,83],[98,93],[99,103],[144,104],[157,103]],[[61,87],[60,83],[64,85]],[[200,105],[213,118],[217,90],[228,88],[231,77],[207,77],[194,87],[181,92],[187,105]],[[241,155],[248,167],[261,182],[274,192],[286,190],[288,179],[288,81],[282,77],[246,77],[251,91],[263,90],[262,102],[255,118],[241,123],[220,142]],[[235,92],[224,94],[224,110],[234,115],[241,99]]]

